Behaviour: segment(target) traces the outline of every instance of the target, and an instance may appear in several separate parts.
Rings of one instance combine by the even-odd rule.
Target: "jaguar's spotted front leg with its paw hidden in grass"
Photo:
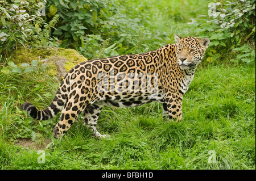
[[[163,103],[163,119],[170,121],[181,121],[182,119],[182,98],[167,97]]]

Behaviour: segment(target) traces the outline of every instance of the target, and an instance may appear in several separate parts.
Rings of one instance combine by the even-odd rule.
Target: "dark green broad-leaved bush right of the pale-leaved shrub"
[[[53,12],[60,16],[59,24],[53,35],[63,40],[61,42],[63,46],[80,47],[87,35],[95,35],[104,24],[105,3],[105,1],[67,0],[65,3],[47,1],[48,16],[51,17]]]

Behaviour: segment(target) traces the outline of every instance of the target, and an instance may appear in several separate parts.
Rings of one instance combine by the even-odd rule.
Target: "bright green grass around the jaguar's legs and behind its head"
[[[144,26],[171,40],[191,35],[183,32],[189,18],[207,14],[199,0],[122,2],[127,17],[148,14],[152,22]],[[81,115],[61,141],[51,136],[59,115],[35,121],[19,108],[24,101],[47,107],[56,78],[40,67],[24,74],[9,69],[0,66],[0,169],[255,169],[255,63],[200,66],[184,95],[181,124],[163,121],[159,103],[104,107],[97,130],[109,138],[93,138]],[[45,163],[38,163],[38,150]]]

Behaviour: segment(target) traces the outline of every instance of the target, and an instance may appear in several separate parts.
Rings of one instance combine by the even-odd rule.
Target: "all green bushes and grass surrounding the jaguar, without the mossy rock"
[[[255,169],[255,1],[0,0],[0,169]],[[181,124],[162,105],[105,107],[96,140],[82,117],[61,141],[59,116],[35,121],[59,87],[47,66],[14,64],[20,47],[73,48],[86,58],[142,53],[174,35],[211,43],[183,99]],[[42,151],[43,150],[43,151]]]

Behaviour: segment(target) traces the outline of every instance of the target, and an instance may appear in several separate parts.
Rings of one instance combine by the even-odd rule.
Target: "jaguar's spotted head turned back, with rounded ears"
[[[210,43],[208,37],[203,39],[191,36],[181,38],[175,35],[174,39],[176,41],[177,64],[181,69],[197,66],[203,59],[204,52]]]

